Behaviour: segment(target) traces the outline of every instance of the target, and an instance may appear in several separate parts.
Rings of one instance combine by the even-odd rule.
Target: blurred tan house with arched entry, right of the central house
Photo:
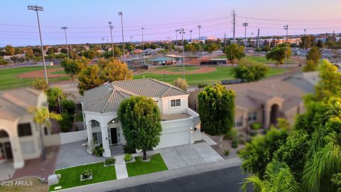
[[[293,124],[296,114],[305,112],[301,97],[307,92],[281,78],[224,86],[236,93],[234,127],[238,129],[252,122],[270,127],[277,123],[278,117]],[[191,92],[188,99],[189,106],[195,111],[198,110],[197,94],[200,90]]]

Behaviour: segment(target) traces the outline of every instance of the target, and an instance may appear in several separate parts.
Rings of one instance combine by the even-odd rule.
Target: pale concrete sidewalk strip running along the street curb
[[[129,186],[137,186],[145,183],[151,183],[156,181],[165,181],[171,178],[178,178],[182,176],[189,176],[193,174],[200,174],[207,171],[215,171],[219,169],[229,168],[232,166],[240,166],[242,164],[241,159],[232,158],[222,161],[215,161],[206,164],[198,164],[195,166],[187,166],[180,169],[172,169],[167,171],[160,171],[153,174],[145,174],[141,176],[133,176],[129,178],[122,178],[112,181],[104,181],[101,183],[93,183],[86,186],[79,186],[75,188],[67,188],[60,191],[110,191],[118,188],[126,188]]]

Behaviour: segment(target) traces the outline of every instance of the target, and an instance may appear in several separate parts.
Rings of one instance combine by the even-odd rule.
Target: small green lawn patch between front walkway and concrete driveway
[[[142,161],[141,156],[135,157],[136,161],[126,164],[126,170],[129,176],[139,176],[143,174],[150,174],[158,171],[166,171],[167,166],[160,154],[149,156],[151,159],[148,162]]]

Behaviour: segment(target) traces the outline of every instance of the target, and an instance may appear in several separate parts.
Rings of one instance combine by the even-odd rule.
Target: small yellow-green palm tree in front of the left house
[[[56,114],[55,112],[49,112],[48,111],[48,107],[31,107],[28,109],[28,112],[31,112],[32,114],[34,114],[34,122],[36,122],[37,127],[38,124],[41,125],[45,125],[45,127],[47,127],[48,129],[51,128],[51,122],[50,119],[55,119],[55,120],[62,120],[62,116],[60,114]],[[41,134],[41,130],[39,130],[39,134],[40,134],[40,143],[43,147],[43,159],[45,160],[45,146],[43,145],[43,135]]]

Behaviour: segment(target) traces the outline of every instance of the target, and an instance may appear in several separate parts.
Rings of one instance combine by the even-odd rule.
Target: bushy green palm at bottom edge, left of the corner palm
[[[253,183],[254,191],[258,192],[300,191],[300,186],[295,181],[288,165],[275,159],[266,166],[263,179],[254,174],[250,174],[247,178],[244,178],[244,182],[242,183],[243,191],[247,191],[247,185],[249,183]]]

